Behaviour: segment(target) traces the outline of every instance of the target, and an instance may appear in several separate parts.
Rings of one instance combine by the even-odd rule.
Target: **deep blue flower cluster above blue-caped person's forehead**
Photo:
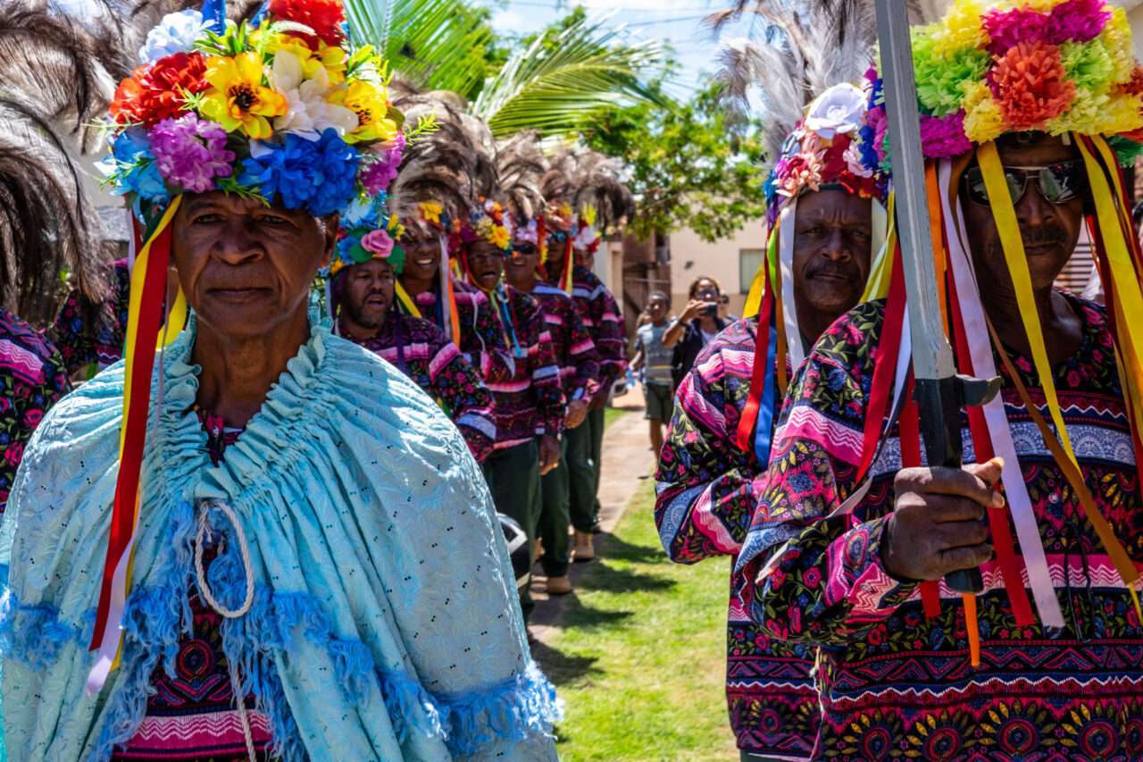
[[[357,196],[358,152],[327,129],[311,141],[289,133],[283,143],[255,143],[242,161],[241,185],[257,189],[287,209],[315,217],[339,212]]]

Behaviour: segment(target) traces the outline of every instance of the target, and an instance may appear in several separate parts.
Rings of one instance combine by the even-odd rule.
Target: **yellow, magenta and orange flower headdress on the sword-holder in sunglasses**
[[[1143,69],[1127,14],[1104,0],[957,0],[913,31],[913,66],[927,158],[1025,130],[1102,135],[1121,159],[1138,153]],[[881,80],[866,77],[866,166],[886,167]]]

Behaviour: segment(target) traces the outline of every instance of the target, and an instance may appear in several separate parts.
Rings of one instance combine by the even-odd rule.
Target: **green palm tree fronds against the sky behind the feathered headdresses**
[[[359,42],[383,50],[402,79],[422,90],[479,92],[471,112],[497,138],[534,129],[572,135],[602,109],[669,106],[648,80],[665,65],[654,41],[632,40],[606,18],[577,18],[539,35],[482,81],[491,31],[458,0],[346,0]]]

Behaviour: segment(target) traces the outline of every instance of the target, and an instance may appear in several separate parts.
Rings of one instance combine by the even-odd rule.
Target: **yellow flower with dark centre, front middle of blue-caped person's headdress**
[[[263,87],[262,57],[241,53],[233,58],[207,58],[206,79],[211,88],[203,94],[200,111],[227,133],[240,129],[254,140],[273,134],[267,117],[281,117],[289,105],[281,93]]]

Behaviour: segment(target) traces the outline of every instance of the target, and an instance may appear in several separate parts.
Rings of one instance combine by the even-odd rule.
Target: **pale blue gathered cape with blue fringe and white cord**
[[[392,366],[313,320],[262,411],[211,466],[193,412],[194,320],[153,383],[122,666],[85,694],[115,485],[122,364],[35,432],[0,529],[3,729],[13,760],[105,760],[171,669],[195,585],[195,506],[229,502],[256,578],[226,656],[286,760],[550,760],[554,690],[528,656],[514,576],[480,470]],[[245,579],[221,511],[216,598]],[[0,574],[3,573],[0,567]]]

